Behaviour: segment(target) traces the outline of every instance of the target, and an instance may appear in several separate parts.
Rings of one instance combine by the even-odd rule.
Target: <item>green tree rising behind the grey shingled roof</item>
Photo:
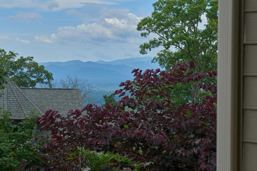
[[[12,51],[7,53],[4,49],[0,49],[0,63],[3,70],[7,72],[7,77],[19,87],[35,87],[37,83],[47,84],[51,87],[53,80],[51,72],[45,70],[43,65],[39,66],[33,57],[21,56],[18,58],[18,55]]]

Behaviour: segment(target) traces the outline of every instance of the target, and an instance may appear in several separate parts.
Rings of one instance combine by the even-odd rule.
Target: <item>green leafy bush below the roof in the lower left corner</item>
[[[13,125],[10,111],[0,113],[0,168],[1,170],[16,170],[26,161],[40,163],[40,156],[36,155],[37,146],[33,141],[36,127],[35,114]],[[25,165],[26,167],[26,165]]]

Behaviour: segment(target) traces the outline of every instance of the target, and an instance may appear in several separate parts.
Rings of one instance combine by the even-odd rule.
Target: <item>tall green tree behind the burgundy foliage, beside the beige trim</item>
[[[150,34],[156,37],[140,45],[140,54],[163,46],[152,62],[166,69],[176,61],[193,61],[195,73],[217,69],[218,0],[159,0],[153,7],[152,15],[142,19],[137,30],[142,37]],[[204,15],[207,24],[199,28]],[[190,101],[197,102],[200,97],[198,84],[189,87]],[[188,86],[184,89],[187,91]]]

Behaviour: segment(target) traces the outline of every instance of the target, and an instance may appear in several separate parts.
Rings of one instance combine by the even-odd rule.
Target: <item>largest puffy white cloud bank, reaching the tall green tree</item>
[[[45,36],[36,36],[35,40],[51,43],[59,42],[61,44],[77,44],[90,42],[131,42],[142,40],[140,32],[136,30],[136,25],[140,17],[132,13],[127,13],[122,17],[103,18],[98,23],[86,23],[74,26],[65,26],[58,28],[57,32],[51,34],[50,38]]]

